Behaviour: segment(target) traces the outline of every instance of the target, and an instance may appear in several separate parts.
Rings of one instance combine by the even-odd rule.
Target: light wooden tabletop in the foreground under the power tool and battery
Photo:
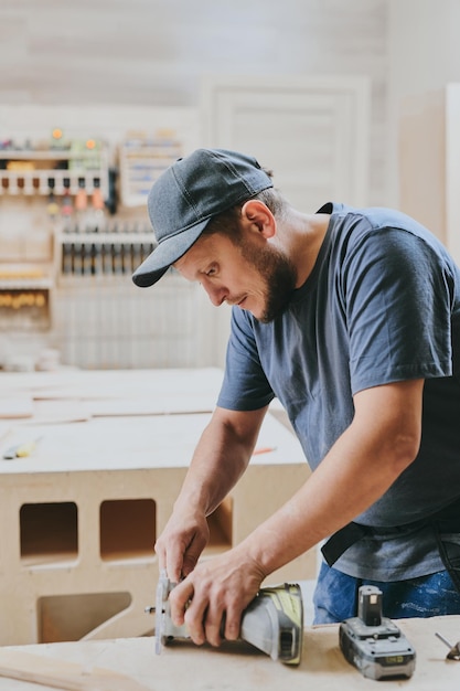
[[[11,665],[13,655],[40,656],[20,658],[25,669],[34,663],[40,671],[45,660],[77,663],[73,671],[84,684],[83,690],[110,691],[356,691],[360,689],[400,689],[410,691],[458,691],[460,662],[446,660],[447,648],[435,636],[439,631],[452,642],[460,637],[460,616],[432,619],[402,619],[398,626],[416,650],[416,668],[407,680],[374,681],[363,678],[349,665],[339,648],[338,626],[309,627],[304,631],[303,655],[299,667],[275,662],[246,644],[225,644],[220,649],[196,648],[191,642],[176,642],[154,655],[154,638],[136,638],[72,644],[47,644],[0,649],[0,667]],[[22,659],[22,662],[21,662]],[[97,685],[96,679],[110,670],[120,677],[105,677],[108,687]],[[51,668],[51,671],[52,668]],[[82,671],[85,673],[82,676]],[[54,670],[54,673],[57,672]],[[104,678],[104,677],[103,677]],[[378,685],[383,684],[383,685]],[[0,691],[36,691],[51,687],[0,679]]]

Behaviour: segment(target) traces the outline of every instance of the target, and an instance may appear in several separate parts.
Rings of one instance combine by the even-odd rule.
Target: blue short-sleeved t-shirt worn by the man
[[[382,528],[335,564],[350,575],[400,580],[442,568],[418,521],[460,497],[460,270],[441,243],[389,209],[327,204],[314,268],[270,323],[233,308],[218,397],[249,411],[277,396],[314,469],[353,419],[353,395],[424,379],[416,460],[356,518]],[[407,525],[407,530],[405,530]]]

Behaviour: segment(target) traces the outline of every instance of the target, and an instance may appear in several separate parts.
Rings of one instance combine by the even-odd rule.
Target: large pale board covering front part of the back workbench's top
[[[132,470],[135,468],[188,467],[211,413],[94,417],[69,424],[30,424],[15,427],[0,440],[0,455],[7,446],[40,439],[28,458],[0,459],[0,474],[65,472],[76,470]],[[297,438],[277,419],[266,417],[252,460],[254,465],[306,464]],[[268,450],[269,449],[269,450]]]

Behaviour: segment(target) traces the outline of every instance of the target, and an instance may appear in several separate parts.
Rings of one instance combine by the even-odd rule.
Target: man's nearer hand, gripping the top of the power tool
[[[257,595],[265,574],[238,548],[201,562],[171,592],[171,617],[186,624],[196,645],[218,646],[239,636],[243,610]]]

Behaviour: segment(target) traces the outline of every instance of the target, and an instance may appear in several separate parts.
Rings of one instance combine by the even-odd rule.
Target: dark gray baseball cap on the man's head
[[[196,149],[178,159],[153,183],[147,201],[157,246],[132,275],[147,288],[200,237],[211,219],[272,187],[252,156]]]

